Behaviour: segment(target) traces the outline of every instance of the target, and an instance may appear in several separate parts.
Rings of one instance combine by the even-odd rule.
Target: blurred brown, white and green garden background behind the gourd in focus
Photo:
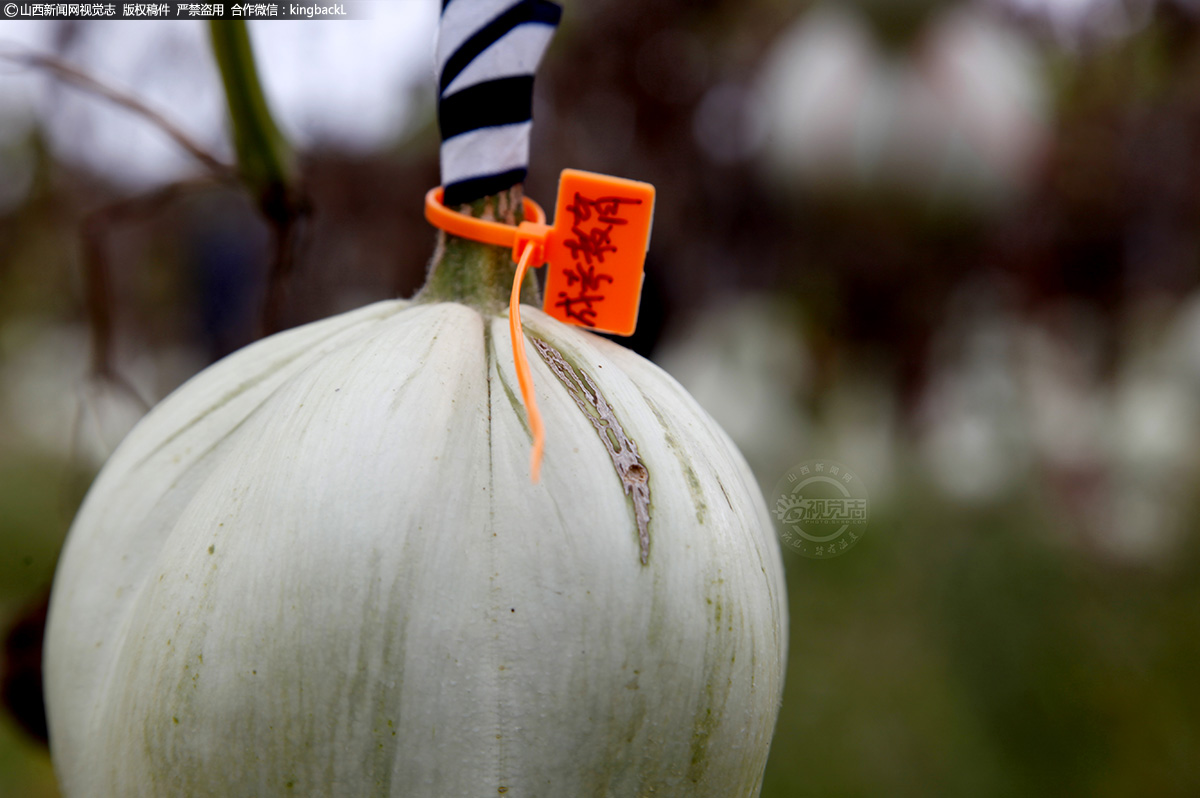
[[[432,253],[438,4],[378,5],[250,28],[311,209],[274,326],[410,295]],[[232,162],[203,24],[0,25],[28,50]],[[763,796],[1200,794],[1200,2],[568,0],[534,115],[534,198],[658,186],[624,343],[766,492],[815,457],[870,491],[853,551],[785,551]],[[0,796],[56,794],[38,613],[78,502],[260,334],[272,229],[161,126],[0,61]]]

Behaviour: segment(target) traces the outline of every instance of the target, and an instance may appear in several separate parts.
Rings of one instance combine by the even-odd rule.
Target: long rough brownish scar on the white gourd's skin
[[[620,484],[625,488],[625,496],[634,502],[637,542],[642,553],[642,565],[646,565],[650,558],[650,472],[637,454],[637,443],[625,434],[608,400],[587,372],[571,366],[558,349],[541,338],[529,336],[529,340],[583,415],[592,422],[596,434],[600,436],[600,442],[608,450],[612,466],[617,469]]]

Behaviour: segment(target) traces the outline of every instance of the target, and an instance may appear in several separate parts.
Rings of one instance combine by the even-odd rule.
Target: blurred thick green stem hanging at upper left
[[[287,194],[292,184],[292,157],[258,80],[246,23],[212,20],[209,35],[224,83],[241,179],[259,199]]]

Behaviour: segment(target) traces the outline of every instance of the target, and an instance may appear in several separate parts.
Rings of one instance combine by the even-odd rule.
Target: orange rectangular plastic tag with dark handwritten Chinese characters
[[[566,324],[631,335],[653,216],[650,184],[564,169],[542,253],[542,310]]]

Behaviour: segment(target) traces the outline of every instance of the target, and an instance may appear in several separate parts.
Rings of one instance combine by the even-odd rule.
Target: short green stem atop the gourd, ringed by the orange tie
[[[520,224],[523,218],[522,186],[517,185],[456,210],[479,218]],[[517,264],[512,250],[491,246],[438,230],[437,247],[430,262],[418,302],[462,302],[488,316],[500,316],[509,306]],[[521,302],[541,307],[534,270],[526,272]]]

